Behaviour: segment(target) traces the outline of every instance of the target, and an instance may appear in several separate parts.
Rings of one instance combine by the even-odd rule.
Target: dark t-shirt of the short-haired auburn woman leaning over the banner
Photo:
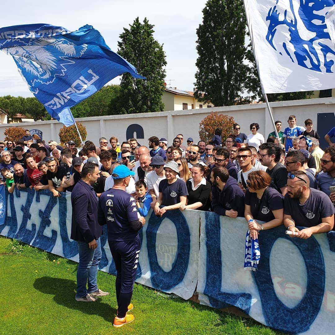
[[[251,193],[247,189],[244,202],[250,206],[254,219],[264,222],[274,219],[273,210],[284,208],[284,197],[272,187],[268,187],[267,192],[264,191],[262,199],[258,199],[256,193]]]

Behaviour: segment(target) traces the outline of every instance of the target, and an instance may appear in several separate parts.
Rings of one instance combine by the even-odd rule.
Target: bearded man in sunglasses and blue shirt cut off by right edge
[[[318,175],[319,189],[325,192],[335,203],[335,192],[330,193],[330,186],[335,186],[335,146],[329,146],[321,158],[322,171]]]

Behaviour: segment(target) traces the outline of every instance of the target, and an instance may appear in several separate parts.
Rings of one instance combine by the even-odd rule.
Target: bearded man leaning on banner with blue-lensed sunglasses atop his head
[[[287,194],[284,197],[284,226],[295,231],[300,239],[328,232],[334,227],[334,206],[322,191],[312,189],[305,172],[287,175]],[[299,230],[296,225],[307,227]]]

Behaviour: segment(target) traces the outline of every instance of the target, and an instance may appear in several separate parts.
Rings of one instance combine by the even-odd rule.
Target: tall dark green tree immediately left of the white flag
[[[230,106],[242,99],[248,66],[246,16],[242,0],[208,0],[197,29],[198,59],[194,96],[214,106]]]

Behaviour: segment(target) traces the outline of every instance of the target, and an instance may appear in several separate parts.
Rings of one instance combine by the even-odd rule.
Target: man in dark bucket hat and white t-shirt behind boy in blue
[[[154,156],[151,158],[150,166],[152,167],[153,171],[147,174],[146,185],[152,198],[152,202],[150,203],[150,207],[152,209],[155,208],[155,203],[159,197],[159,182],[165,179],[164,165],[165,162],[163,157]]]

